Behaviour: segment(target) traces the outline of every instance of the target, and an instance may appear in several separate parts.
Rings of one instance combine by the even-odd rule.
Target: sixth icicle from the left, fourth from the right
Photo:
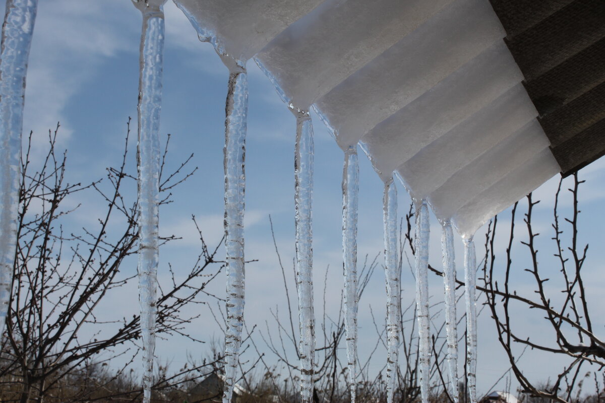
[[[401,295],[397,264],[397,188],[391,178],[384,185],[384,260],[387,279],[387,403],[393,402],[399,362]]]

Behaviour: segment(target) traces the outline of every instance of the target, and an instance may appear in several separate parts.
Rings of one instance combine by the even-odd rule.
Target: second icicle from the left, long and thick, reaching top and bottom
[[[143,337],[143,402],[151,400],[155,350],[160,109],[164,51],[165,0],[134,3],[143,14],[139,77],[139,305]]]

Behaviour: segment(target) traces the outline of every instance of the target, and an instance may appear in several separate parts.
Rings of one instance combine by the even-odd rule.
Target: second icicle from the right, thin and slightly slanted
[[[445,289],[445,327],[448,340],[448,367],[452,399],[458,403],[458,332],[456,329],[456,259],[454,232],[450,221],[442,222],[441,250],[443,253],[443,288]]]

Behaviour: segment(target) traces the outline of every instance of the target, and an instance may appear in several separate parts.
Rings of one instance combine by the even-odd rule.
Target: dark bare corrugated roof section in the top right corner
[[[491,4],[563,175],[605,155],[605,2]]]

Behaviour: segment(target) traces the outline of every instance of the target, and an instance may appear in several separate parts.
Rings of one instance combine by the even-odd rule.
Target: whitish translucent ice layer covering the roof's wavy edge
[[[488,0],[175,2],[463,235],[561,170]]]

